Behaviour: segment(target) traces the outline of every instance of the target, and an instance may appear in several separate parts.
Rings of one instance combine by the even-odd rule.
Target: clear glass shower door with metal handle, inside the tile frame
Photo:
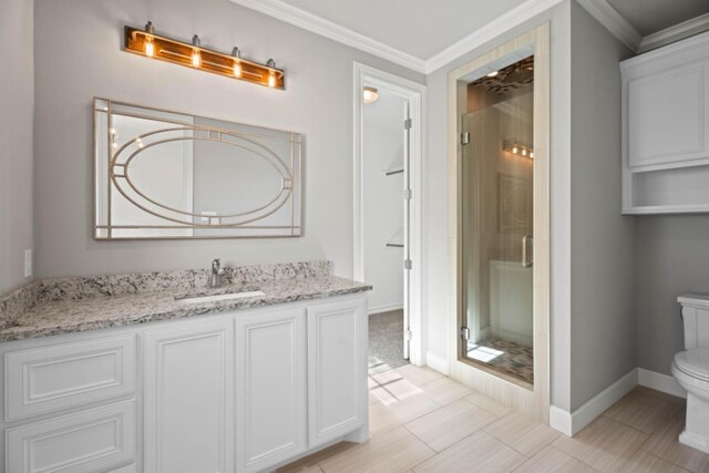
[[[525,58],[467,84],[462,123],[463,357],[531,387],[533,78]]]

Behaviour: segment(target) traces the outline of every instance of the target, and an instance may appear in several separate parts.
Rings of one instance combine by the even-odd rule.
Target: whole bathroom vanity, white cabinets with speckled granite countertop
[[[0,299],[4,471],[254,472],[364,441],[370,287],[321,261],[254,268]]]

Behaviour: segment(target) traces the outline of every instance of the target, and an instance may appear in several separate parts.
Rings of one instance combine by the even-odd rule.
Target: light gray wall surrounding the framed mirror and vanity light
[[[176,38],[198,33],[206,47],[238,45],[247,59],[273,56],[286,70],[287,90],[123,52],[123,27],[147,20]],[[206,267],[216,256],[227,265],[327,258],[338,275],[351,275],[352,61],[418,82],[421,74],[228,0],[45,0],[35,21],[39,276]],[[94,95],[301,132],[305,237],[94,241]]]

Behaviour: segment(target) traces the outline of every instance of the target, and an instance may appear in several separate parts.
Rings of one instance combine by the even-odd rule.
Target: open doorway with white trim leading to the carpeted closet
[[[354,64],[354,279],[371,284],[370,373],[423,364],[425,86]]]

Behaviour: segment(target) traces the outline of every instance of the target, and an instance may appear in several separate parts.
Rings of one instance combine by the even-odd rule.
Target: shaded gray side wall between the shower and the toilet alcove
[[[631,52],[572,6],[572,399],[636,367],[634,217],[620,215],[620,69]]]

